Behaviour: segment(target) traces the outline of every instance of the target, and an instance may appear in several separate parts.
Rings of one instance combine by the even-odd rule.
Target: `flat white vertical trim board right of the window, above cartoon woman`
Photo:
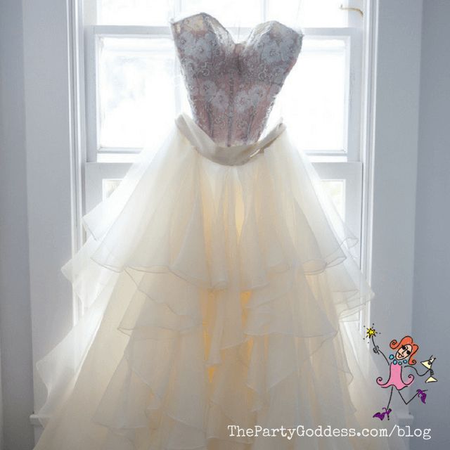
[[[411,333],[422,3],[378,8],[371,320],[387,349]]]

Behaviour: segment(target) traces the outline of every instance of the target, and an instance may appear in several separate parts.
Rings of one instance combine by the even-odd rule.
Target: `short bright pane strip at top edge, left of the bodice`
[[[167,25],[167,0],[96,0],[99,25]]]

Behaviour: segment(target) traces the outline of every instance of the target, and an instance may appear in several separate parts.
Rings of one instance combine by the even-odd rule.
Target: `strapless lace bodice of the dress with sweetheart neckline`
[[[207,13],[172,21],[171,27],[195,123],[220,146],[257,141],[303,34],[271,20],[235,43]]]

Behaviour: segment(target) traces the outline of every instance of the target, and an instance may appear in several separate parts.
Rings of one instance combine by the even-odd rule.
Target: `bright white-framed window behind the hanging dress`
[[[112,191],[149,136],[188,111],[168,20],[199,11],[236,40],[265,20],[302,27],[302,53],[275,108],[361,238],[363,20],[341,0],[85,0],[84,212]]]

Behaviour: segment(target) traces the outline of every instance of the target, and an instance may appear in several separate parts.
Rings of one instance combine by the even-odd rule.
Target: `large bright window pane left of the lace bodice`
[[[172,124],[174,52],[170,39],[101,37],[99,145],[137,147]]]

